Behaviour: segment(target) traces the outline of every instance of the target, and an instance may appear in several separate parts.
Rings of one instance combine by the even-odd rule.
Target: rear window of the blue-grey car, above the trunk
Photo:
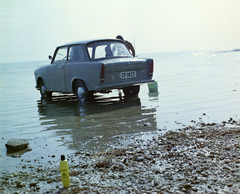
[[[132,56],[125,44],[119,41],[93,42],[87,45],[87,50],[90,59]]]

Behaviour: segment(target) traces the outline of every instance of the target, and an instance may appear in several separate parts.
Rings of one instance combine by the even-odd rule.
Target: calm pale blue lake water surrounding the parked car
[[[167,52],[154,59],[158,93],[141,85],[138,98],[118,90],[97,94],[81,105],[73,95],[41,99],[34,70],[48,61],[0,64],[0,170],[14,171],[22,160],[58,160],[78,150],[101,151],[111,142],[158,129],[240,116],[240,52]],[[13,158],[5,143],[24,138],[32,149]],[[54,158],[55,156],[55,158]],[[36,160],[37,159],[37,160]]]

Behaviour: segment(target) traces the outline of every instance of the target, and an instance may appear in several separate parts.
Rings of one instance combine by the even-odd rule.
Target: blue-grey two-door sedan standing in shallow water
[[[96,92],[122,89],[138,95],[140,84],[153,82],[153,60],[134,58],[122,40],[80,41],[56,48],[51,63],[34,71],[42,97],[75,93],[88,101]]]

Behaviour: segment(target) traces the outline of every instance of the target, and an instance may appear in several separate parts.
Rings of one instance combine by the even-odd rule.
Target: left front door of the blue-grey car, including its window
[[[48,66],[48,90],[65,92],[65,64],[67,62],[68,47],[58,48],[53,63]]]

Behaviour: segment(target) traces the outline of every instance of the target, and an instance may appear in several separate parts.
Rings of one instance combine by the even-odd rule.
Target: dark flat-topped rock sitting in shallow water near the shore
[[[26,139],[10,139],[5,144],[8,153],[18,152],[27,148],[29,142]]]

